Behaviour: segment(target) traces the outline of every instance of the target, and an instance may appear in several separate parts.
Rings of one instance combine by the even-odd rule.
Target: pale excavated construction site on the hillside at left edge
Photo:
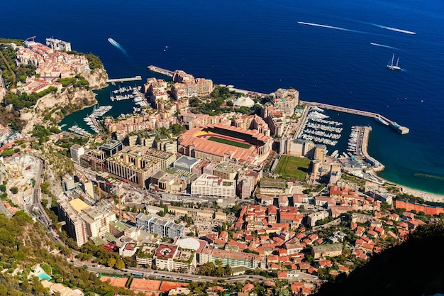
[[[35,180],[40,174],[40,160],[30,155],[0,158],[0,182],[6,185],[7,199],[22,209],[33,204]]]

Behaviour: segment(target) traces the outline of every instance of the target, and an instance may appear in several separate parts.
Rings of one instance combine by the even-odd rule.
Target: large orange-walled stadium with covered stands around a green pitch
[[[273,139],[257,130],[209,124],[191,128],[180,136],[178,150],[184,155],[220,162],[260,165],[272,150]]]

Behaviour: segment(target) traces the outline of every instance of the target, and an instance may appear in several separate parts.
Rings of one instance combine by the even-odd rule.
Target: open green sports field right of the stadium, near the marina
[[[307,172],[309,172],[309,165],[309,159],[282,155],[274,173],[285,178],[291,178],[303,182]]]

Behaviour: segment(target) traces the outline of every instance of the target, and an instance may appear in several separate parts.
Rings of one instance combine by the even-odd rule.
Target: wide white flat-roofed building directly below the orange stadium
[[[221,179],[213,175],[201,175],[192,182],[193,195],[206,197],[228,197],[236,196],[236,181]]]

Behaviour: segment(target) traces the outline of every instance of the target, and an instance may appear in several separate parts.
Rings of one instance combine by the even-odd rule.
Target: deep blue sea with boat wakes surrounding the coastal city
[[[99,55],[109,77],[145,80],[147,66],[157,65],[258,92],[294,87],[306,101],[378,112],[410,133],[337,116],[374,127],[369,152],[386,165],[382,177],[444,194],[442,0],[21,0],[1,1],[0,11],[2,37],[70,41]],[[402,71],[387,70],[393,53]],[[108,103],[109,89],[99,93]]]

